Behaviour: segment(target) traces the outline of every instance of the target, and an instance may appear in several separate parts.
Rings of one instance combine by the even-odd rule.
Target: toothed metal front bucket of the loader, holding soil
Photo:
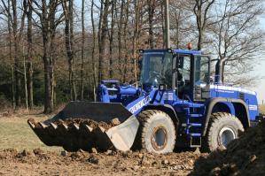
[[[40,140],[67,151],[129,150],[139,122],[121,103],[71,102],[52,119],[27,120]]]

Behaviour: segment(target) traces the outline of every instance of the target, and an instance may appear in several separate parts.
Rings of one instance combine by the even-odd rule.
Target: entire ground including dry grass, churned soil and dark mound
[[[227,150],[155,155],[50,148],[27,126],[28,118],[47,119],[35,117],[0,119],[0,175],[265,175],[265,122],[246,130]]]

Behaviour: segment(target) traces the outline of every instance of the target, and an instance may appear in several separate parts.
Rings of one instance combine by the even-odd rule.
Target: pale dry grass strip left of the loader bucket
[[[37,117],[36,117],[37,116]],[[49,151],[58,151],[62,148],[48,147],[31,130],[27,125],[27,119],[35,118],[36,120],[47,119],[43,115],[16,115],[12,118],[0,119],[0,150],[17,149],[31,150],[43,149]]]

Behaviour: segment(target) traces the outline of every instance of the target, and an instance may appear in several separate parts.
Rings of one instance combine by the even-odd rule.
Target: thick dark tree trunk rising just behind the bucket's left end
[[[33,0],[33,11],[39,17],[43,35],[43,65],[44,65],[44,84],[45,84],[45,99],[44,99],[44,113],[51,113],[54,108],[54,38],[56,28],[62,21],[63,15],[56,14],[58,11],[59,0],[51,0],[49,4],[45,0],[38,2]],[[37,25],[37,24],[35,24]]]

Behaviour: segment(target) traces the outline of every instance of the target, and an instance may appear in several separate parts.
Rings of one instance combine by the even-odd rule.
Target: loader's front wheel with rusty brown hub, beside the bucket
[[[138,115],[136,143],[148,152],[165,154],[175,148],[175,125],[163,111],[147,110]]]

